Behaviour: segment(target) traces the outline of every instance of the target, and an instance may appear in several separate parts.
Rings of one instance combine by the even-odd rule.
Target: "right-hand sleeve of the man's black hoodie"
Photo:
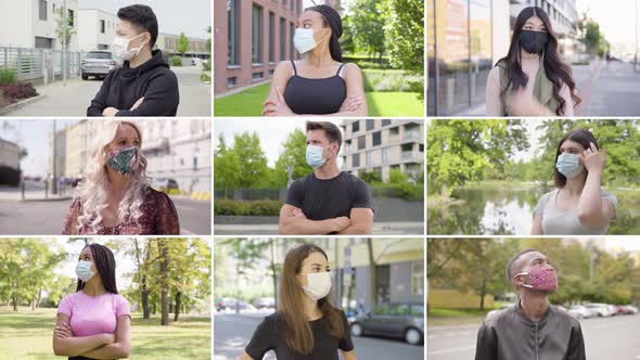
[[[144,101],[136,110],[120,110],[116,116],[176,116],[180,94],[178,78],[170,70],[149,80]]]

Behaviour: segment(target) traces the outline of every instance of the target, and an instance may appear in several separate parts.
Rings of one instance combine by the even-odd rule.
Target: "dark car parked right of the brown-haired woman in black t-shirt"
[[[357,316],[351,335],[367,334],[404,338],[411,345],[424,340],[424,304],[383,303],[370,312]]]

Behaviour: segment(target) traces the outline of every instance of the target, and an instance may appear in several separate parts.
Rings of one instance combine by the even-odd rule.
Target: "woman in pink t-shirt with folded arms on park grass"
[[[118,294],[116,261],[100,244],[82,248],[76,293],[57,307],[53,352],[69,360],[123,359],[131,347],[129,303]]]

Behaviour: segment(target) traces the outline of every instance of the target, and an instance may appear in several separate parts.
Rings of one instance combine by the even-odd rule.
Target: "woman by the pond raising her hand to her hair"
[[[606,149],[589,130],[565,134],[555,151],[555,187],[534,209],[532,235],[604,235],[617,200],[602,188]]]

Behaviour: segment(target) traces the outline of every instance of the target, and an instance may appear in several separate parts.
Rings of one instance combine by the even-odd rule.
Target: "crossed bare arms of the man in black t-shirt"
[[[280,209],[278,233],[281,235],[323,235],[336,232],[341,235],[370,234],[373,226],[373,210],[353,208],[349,217],[325,220],[309,220],[302,209],[284,204]]]

